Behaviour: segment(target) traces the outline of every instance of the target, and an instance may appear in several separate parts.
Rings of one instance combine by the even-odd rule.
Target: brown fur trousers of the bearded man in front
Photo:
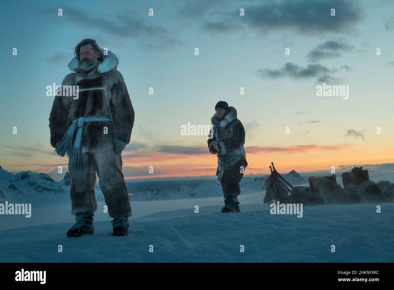
[[[130,200],[122,172],[122,156],[112,148],[105,151],[85,152],[86,167],[70,170],[71,214],[97,210],[96,172],[100,189],[111,217],[131,216]]]

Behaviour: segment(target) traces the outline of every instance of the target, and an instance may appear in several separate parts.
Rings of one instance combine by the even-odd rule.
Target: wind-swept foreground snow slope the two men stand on
[[[241,203],[239,214],[205,206],[132,218],[125,237],[111,235],[109,219],[80,238],[66,237],[71,222],[9,229],[0,262],[394,262],[393,204],[380,214],[372,205],[304,207],[297,218]]]

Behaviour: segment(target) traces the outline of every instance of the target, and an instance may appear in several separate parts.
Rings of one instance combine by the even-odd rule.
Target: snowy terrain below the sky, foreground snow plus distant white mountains
[[[304,206],[301,218],[271,215],[262,204],[264,180],[258,178],[242,187],[242,212],[222,214],[223,197],[211,190],[216,185],[203,182],[201,190],[175,190],[180,199],[164,189],[163,200],[131,199],[129,235],[117,237],[99,193],[94,234],[67,238],[74,223],[67,180],[27,173],[12,175],[0,168],[4,197],[8,200],[11,192],[15,202],[32,203],[30,218],[0,216],[0,262],[394,262],[393,203],[381,204],[381,213],[375,204],[353,204]],[[376,182],[393,177],[392,172],[370,173]],[[56,197],[48,188],[58,192]]]

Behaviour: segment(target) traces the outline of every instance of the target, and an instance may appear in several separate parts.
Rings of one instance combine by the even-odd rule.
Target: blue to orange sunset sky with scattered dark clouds
[[[136,112],[122,155],[126,179],[214,175],[207,136],[180,131],[188,122],[210,125],[219,100],[245,127],[245,174],[267,174],[271,161],[280,172],[327,173],[394,162],[393,0],[45,2],[0,11],[7,171],[63,178],[68,159],[49,142],[54,97],[46,86],[61,84],[84,38],[117,55]],[[349,99],[317,97],[323,82],[349,86]]]

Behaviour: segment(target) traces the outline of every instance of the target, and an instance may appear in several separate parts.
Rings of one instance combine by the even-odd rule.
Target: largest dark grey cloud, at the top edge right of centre
[[[351,32],[361,20],[360,3],[355,1],[267,1],[242,7],[245,8],[245,16],[239,15],[238,4],[230,11],[222,12],[222,19],[216,20],[214,25],[209,20],[203,28],[220,32],[249,26],[262,33],[293,30],[303,35],[322,35]],[[331,16],[331,8],[336,9],[335,16]]]

